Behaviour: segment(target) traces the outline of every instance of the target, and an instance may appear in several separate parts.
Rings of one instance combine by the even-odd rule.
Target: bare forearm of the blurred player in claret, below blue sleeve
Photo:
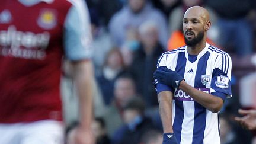
[[[79,123],[84,128],[90,128],[92,123],[94,82],[93,67],[90,61],[75,64],[74,76],[79,96]]]

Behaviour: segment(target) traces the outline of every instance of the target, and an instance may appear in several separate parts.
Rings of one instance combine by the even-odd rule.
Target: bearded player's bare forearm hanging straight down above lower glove
[[[163,91],[158,94],[159,113],[164,133],[173,133],[172,129],[172,93]]]

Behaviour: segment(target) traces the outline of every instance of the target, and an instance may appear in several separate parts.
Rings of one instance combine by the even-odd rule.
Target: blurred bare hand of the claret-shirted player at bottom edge
[[[95,139],[91,129],[77,126],[69,133],[67,142],[68,144],[95,144]]]

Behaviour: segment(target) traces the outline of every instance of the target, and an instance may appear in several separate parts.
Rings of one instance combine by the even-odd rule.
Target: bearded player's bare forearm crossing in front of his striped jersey
[[[179,88],[182,89],[187,95],[190,95],[195,101],[197,101],[197,103],[203,105],[203,107],[207,108],[213,113],[217,113],[217,111],[219,111],[223,105],[223,100],[221,98],[199,91],[188,85],[185,81],[181,82]]]

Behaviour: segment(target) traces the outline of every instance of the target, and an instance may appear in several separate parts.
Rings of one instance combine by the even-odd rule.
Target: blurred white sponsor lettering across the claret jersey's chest
[[[18,31],[14,25],[8,30],[0,30],[0,55],[24,59],[44,59],[50,41],[45,31],[35,34],[30,31]]]

